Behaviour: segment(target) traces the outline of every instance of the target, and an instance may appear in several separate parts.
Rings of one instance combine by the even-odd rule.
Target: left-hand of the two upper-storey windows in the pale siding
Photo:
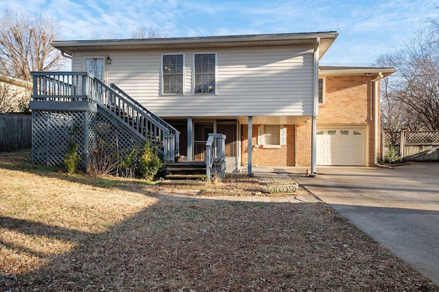
[[[183,94],[184,57],[182,54],[162,55],[163,94]]]

